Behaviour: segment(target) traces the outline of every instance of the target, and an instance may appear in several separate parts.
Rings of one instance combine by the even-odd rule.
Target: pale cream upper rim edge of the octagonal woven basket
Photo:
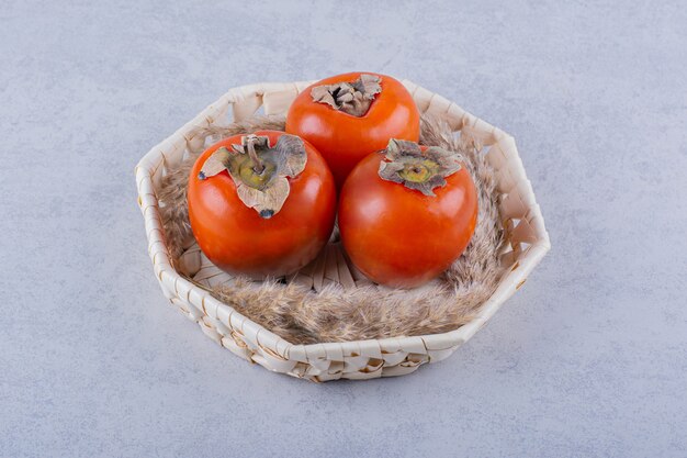
[[[167,245],[164,243],[164,228],[161,226],[161,220],[160,220],[160,215],[158,211],[157,197],[155,196],[154,192],[150,192],[150,190],[155,189],[153,185],[153,176],[157,171],[158,167],[162,167],[162,164],[165,161],[164,152],[166,149],[166,146],[172,139],[180,139],[181,137],[183,137],[188,141],[189,138],[184,136],[184,133],[187,131],[189,131],[190,129],[199,124],[207,124],[207,123],[213,122],[213,120],[209,119],[205,114],[205,112],[211,107],[222,104],[222,103],[227,103],[229,100],[234,99],[237,94],[252,93],[256,97],[261,98],[262,96],[264,96],[266,93],[270,91],[284,90],[284,87],[295,87],[297,88],[299,91],[301,91],[303,88],[309,86],[313,82],[315,81],[263,82],[263,83],[245,85],[245,86],[239,86],[239,87],[229,89],[217,101],[211,104],[207,109],[203,110],[199,115],[193,118],[191,121],[187,122],[182,127],[178,129],[171,136],[169,136],[167,139],[160,142],[159,144],[150,148],[150,150],[138,161],[138,164],[135,167],[136,185],[137,185],[137,190],[138,190],[138,202],[139,202],[139,205],[142,205],[143,208],[143,200],[147,199],[149,206],[147,206],[144,210],[144,217],[146,219],[146,221],[148,221],[148,219],[153,219],[153,220],[157,219],[157,223],[158,223],[157,226],[154,226],[151,230],[148,230],[146,225],[146,232],[147,232],[147,238],[148,238],[148,253],[150,255],[150,258],[153,259],[154,270],[155,270],[156,276],[158,277],[158,280],[162,282],[165,280],[165,277],[168,276],[169,279],[165,281],[171,282],[173,284],[174,291],[178,294],[182,294],[183,291],[185,291],[187,298],[192,292],[201,294],[203,309],[204,309],[203,311],[206,314],[212,316],[213,314],[210,313],[210,311],[213,311],[213,309],[216,315],[228,314],[228,317],[226,317],[226,320],[232,322],[233,324],[234,322],[236,322],[236,328],[240,329],[244,335],[246,334],[255,335],[256,339],[259,335],[260,336],[259,340],[262,345],[268,345],[272,349],[274,348],[278,349],[277,353],[281,357],[286,358],[286,359],[295,359],[299,361],[311,361],[313,358],[326,358],[326,355],[328,355],[333,350],[335,350],[336,353],[342,351],[344,354],[354,354],[362,346],[368,347],[370,344],[374,344],[375,346],[379,346],[379,344],[385,344],[385,345],[393,345],[393,346],[398,346],[403,348],[413,348],[415,346],[418,346],[418,349],[420,348],[419,346],[421,346],[425,349],[441,350],[441,349],[455,347],[455,342],[463,342],[463,343],[466,342],[498,311],[500,305],[511,294],[505,291],[505,288],[503,288],[505,286],[504,278],[508,277],[511,280],[517,281],[519,283],[517,288],[519,288],[519,286],[521,286],[525,282],[527,276],[533,270],[533,268],[539,264],[539,261],[544,257],[544,255],[551,248],[549,234],[544,226],[543,215],[541,214],[541,210],[536,201],[528,209],[528,215],[530,215],[531,219],[537,219],[540,222],[540,224],[537,227],[538,230],[537,239],[532,241],[527,252],[522,255],[523,257],[527,257],[528,261],[525,262],[523,266],[520,266],[517,272],[509,272],[510,275],[515,273],[515,277],[505,275],[504,278],[502,278],[496,291],[480,308],[480,311],[477,312],[477,314],[475,315],[473,320],[471,320],[469,323],[464,324],[463,326],[459,327],[458,329],[449,331],[446,333],[427,334],[427,335],[421,335],[421,336],[386,337],[386,338],[381,338],[381,339],[368,339],[368,340],[328,342],[328,343],[317,343],[317,344],[307,344],[307,345],[291,344],[284,338],[272,333],[270,329],[257,324],[256,322],[251,321],[247,316],[244,316],[230,305],[225,304],[221,302],[219,300],[215,299],[206,290],[193,284],[191,281],[187,280],[184,277],[182,277],[179,272],[177,272],[173,269],[171,262],[169,261],[170,259],[169,250],[167,248]],[[409,80],[402,80],[402,82],[406,86],[406,88],[413,89],[412,92],[414,94],[415,94],[415,91],[427,91],[426,89],[421,88],[420,86],[415,85],[414,82]],[[432,93],[432,97],[435,96],[440,98],[440,96]],[[451,104],[460,109],[460,107],[455,105],[453,102],[451,102]],[[477,119],[476,116],[465,112],[464,110],[462,111],[464,112],[463,122],[465,125],[474,125],[478,122],[481,130],[489,131],[491,134],[494,136],[494,138],[499,139],[499,141],[510,139],[515,143],[515,139],[513,139],[513,137],[508,135],[507,133],[505,133],[504,131],[484,122],[483,120]],[[162,160],[160,160],[160,157]],[[526,177],[523,168],[521,172]],[[527,182],[527,186],[529,187],[529,191],[532,192],[533,194],[533,191],[531,190],[531,183],[529,182],[529,180],[526,180],[526,182]],[[146,214],[146,212],[149,209],[154,209],[153,215]],[[158,232],[159,235],[151,236],[151,235],[155,235],[153,234],[154,232]],[[218,313],[221,311],[222,313]]]

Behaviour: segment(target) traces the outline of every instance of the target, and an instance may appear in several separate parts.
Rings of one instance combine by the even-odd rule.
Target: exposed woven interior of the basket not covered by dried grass
[[[227,102],[217,107],[213,119],[206,119],[205,122],[224,125],[255,115],[285,114],[289,104],[300,89],[302,88],[296,85],[292,90],[268,91],[262,94],[254,93],[251,97],[243,98],[241,103]],[[418,92],[420,93],[418,94]],[[421,97],[421,89],[419,88],[417,88],[414,96],[416,96],[415,99],[423,113],[429,112],[443,115],[453,129],[454,135],[470,135],[484,145],[483,153],[496,171],[498,190],[502,192],[499,210],[504,217],[506,239],[508,242],[502,254],[502,264],[506,267],[519,267],[516,265],[518,258],[523,253],[527,253],[531,245],[537,242],[537,234],[526,211],[533,202],[528,202],[528,190],[519,189],[516,186],[516,180],[510,171],[509,166],[513,166],[513,164],[509,164],[509,159],[514,160],[514,155],[509,154],[509,152],[511,148],[515,149],[513,138],[468,113],[455,113],[451,112],[451,110],[442,112],[442,103],[437,103],[435,97],[430,97],[429,102],[427,102],[426,98]],[[159,187],[167,171],[178,166],[191,152],[200,153],[218,139],[213,137],[205,139],[193,138],[190,135],[192,135],[190,132],[187,132],[184,135],[184,147],[176,148],[173,154],[164,155],[165,160],[153,174],[155,188]],[[517,159],[517,155],[515,155],[515,159]],[[233,282],[233,276],[213,265],[201,252],[194,239],[189,239],[184,248],[179,259],[174,259],[174,265],[181,273],[207,288]],[[255,279],[255,281],[262,280],[262,278]],[[322,254],[313,262],[295,275],[290,276],[286,280],[295,281],[316,291],[331,283],[339,284],[345,289],[374,287],[374,283],[362,275],[344,255],[338,231],[336,230]]]

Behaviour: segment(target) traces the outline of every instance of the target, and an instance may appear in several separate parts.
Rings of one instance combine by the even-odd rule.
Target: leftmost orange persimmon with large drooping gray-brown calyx
[[[307,265],[329,239],[336,215],[334,178],[317,149],[275,131],[209,147],[191,170],[188,201],[207,258],[251,277]]]

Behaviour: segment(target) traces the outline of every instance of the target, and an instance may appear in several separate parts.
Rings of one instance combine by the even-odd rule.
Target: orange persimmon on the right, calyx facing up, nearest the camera
[[[349,258],[371,280],[418,287],[449,268],[474,232],[477,193],[457,153],[392,139],[349,175],[339,231]]]

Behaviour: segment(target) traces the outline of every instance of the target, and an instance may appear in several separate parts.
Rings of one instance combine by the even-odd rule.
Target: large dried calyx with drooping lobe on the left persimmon
[[[227,170],[240,201],[261,217],[270,219],[291,192],[286,178],[297,177],[306,161],[305,144],[295,135],[281,135],[274,146],[267,136],[245,135],[240,145],[232,145],[232,150],[222,147],[210,155],[199,179]]]

